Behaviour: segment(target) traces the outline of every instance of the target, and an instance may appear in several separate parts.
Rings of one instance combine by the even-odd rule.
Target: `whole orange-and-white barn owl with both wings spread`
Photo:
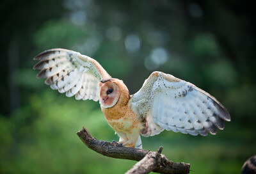
[[[122,146],[142,148],[140,135],[160,132],[207,136],[224,129],[230,121],[227,109],[194,84],[163,72],[152,72],[141,89],[129,94],[120,79],[112,78],[95,60],[79,52],[50,49],[34,58],[39,62],[38,78],[52,90],[75,95],[77,100],[94,100],[108,124],[120,137]]]

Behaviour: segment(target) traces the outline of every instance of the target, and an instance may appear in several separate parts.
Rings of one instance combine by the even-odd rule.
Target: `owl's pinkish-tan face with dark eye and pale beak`
[[[118,79],[102,79],[100,81],[100,105],[104,108],[115,106],[119,100],[120,91]]]

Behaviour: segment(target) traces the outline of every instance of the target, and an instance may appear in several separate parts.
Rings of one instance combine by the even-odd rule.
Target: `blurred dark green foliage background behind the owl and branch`
[[[244,1],[1,1],[0,173],[124,173],[134,161],[88,149],[76,132],[118,140],[99,102],[52,91],[33,57],[52,48],[97,59],[133,94],[154,70],[189,81],[228,109],[215,136],[164,131],[163,146],[191,173],[239,173],[256,154],[255,8]]]

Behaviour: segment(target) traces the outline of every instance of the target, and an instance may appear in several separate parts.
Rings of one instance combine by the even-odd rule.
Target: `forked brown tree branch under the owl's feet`
[[[123,146],[111,145],[110,142],[93,138],[90,133],[83,127],[78,131],[77,136],[88,146],[88,148],[107,157],[117,159],[130,159],[137,162],[127,173],[189,173],[190,164],[184,162],[172,162],[161,154],[163,147],[157,152],[150,152],[138,148],[129,148]]]

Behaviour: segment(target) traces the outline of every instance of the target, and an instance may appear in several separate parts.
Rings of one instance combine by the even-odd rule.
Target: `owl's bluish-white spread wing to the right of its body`
[[[224,120],[230,121],[227,109],[209,93],[163,72],[153,72],[131,102],[132,110],[145,122],[143,136],[164,129],[207,136],[224,129]]]

